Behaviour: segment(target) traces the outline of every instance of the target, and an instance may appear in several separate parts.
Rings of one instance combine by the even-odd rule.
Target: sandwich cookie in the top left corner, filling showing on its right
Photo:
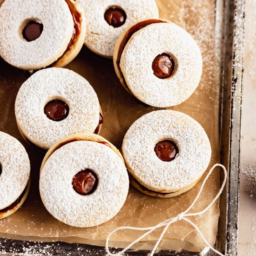
[[[0,13],[0,56],[14,67],[63,67],[83,46],[86,23],[74,0],[5,0]]]

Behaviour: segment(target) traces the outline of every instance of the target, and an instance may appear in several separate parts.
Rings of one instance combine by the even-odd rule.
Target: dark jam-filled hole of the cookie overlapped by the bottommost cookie
[[[45,105],[44,113],[50,120],[62,121],[67,118],[69,107],[64,101],[52,100]]]

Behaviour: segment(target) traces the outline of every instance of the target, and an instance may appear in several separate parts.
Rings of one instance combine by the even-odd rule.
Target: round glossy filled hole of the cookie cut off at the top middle
[[[104,13],[104,19],[112,27],[121,27],[125,23],[126,17],[125,11],[118,6],[108,7]]]

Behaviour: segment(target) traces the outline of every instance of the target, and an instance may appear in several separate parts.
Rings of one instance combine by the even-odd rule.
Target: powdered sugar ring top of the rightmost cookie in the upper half
[[[160,79],[152,62],[167,53],[176,60],[175,74]],[[154,107],[171,107],[187,100],[198,86],[202,56],[191,35],[174,23],[155,23],[137,31],[123,50],[120,68],[136,98]]]

